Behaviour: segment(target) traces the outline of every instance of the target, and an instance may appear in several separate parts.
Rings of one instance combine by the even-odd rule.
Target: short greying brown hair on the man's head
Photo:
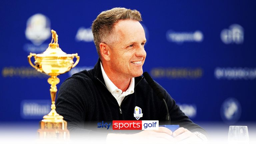
[[[115,23],[119,20],[136,20],[142,21],[141,14],[137,10],[131,10],[126,8],[112,8],[101,12],[92,23],[93,40],[96,46],[99,57],[100,54],[100,43],[111,44],[115,41],[113,29]]]

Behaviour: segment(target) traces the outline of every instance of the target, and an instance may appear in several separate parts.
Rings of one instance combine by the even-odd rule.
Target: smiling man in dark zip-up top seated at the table
[[[68,122],[70,132],[90,133],[86,122],[136,120],[133,115],[136,106],[143,112],[140,120],[165,120],[163,101],[141,76],[146,58],[146,38],[140,21],[141,14],[137,10],[126,8],[103,11],[93,21],[92,32],[99,60],[93,69],[66,79],[56,101],[56,110]],[[206,132],[180,110],[164,88],[158,86],[168,105],[172,124],[179,124],[180,128],[172,132],[160,127],[157,131],[119,135],[119,138],[204,138]],[[96,126],[96,122],[92,124]],[[109,134],[108,138],[111,137],[116,137],[116,134]]]

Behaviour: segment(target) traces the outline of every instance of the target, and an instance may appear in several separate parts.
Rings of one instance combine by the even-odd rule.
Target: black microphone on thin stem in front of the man
[[[156,95],[164,101],[166,111],[167,111],[165,120],[166,120],[166,124],[170,125],[171,124],[171,118],[170,118],[170,114],[169,114],[169,110],[168,110],[166,101],[164,100],[164,95],[162,94],[162,92],[160,91],[160,89],[158,88],[158,86],[156,85],[154,80],[151,78],[151,76],[148,74],[148,72],[144,72],[143,76],[146,79],[146,81],[148,82],[148,84],[151,86],[153,91],[155,91]]]

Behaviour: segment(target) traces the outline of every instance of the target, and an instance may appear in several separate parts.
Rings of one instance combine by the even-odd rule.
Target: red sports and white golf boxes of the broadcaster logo
[[[114,120],[113,130],[158,130],[158,120]]]

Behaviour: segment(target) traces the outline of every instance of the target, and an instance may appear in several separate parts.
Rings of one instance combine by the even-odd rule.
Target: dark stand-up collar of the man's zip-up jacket
[[[101,83],[103,83],[105,86],[105,81],[103,79],[103,76],[102,76],[102,72],[101,72],[101,67],[100,67],[100,59],[98,59],[98,62],[95,64],[94,68],[93,68],[93,72],[94,72],[94,78],[95,79],[98,79],[99,81],[101,81]],[[135,80],[135,83],[134,83],[134,88],[141,82],[141,80],[143,80],[144,77],[142,76],[138,76],[138,77],[135,77],[134,80]]]

